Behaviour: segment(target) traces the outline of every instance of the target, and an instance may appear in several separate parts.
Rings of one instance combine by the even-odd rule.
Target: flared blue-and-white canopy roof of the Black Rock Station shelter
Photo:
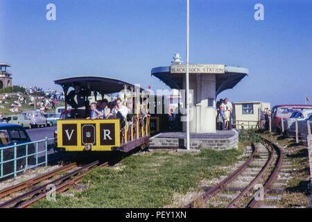
[[[153,68],[151,75],[162,80],[171,89],[183,89],[183,76],[185,74],[171,73],[171,67]],[[190,73],[190,75],[192,74]],[[245,76],[248,76],[248,69],[225,66],[224,74],[216,74],[216,96],[225,89],[232,89]]]

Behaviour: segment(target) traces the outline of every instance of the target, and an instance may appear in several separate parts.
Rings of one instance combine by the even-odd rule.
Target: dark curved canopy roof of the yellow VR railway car
[[[73,83],[80,83],[82,88],[87,88],[90,85],[92,91],[100,92],[101,94],[111,94],[115,92],[121,92],[124,86],[127,85],[128,89],[135,85],[131,83],[126,83],[123,80],[116,78],[100,77],[100,76],[76,76],[69,78],[62,78],[54,80],[55,84],[61,85],[63,89],[69,89],[72,87]],[[140,92],[144,89],[140,88]]]

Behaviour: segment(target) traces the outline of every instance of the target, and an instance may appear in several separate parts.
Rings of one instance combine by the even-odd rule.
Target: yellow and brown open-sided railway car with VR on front
[[[139,103],[146,104],[148,110],[148,92],[130,83],[114,78],[98,76],[80,76],[63,78],[54,81],[62,86],[66,96],[73,83],[78,83],[81,89],[87,89],[94,93],[105,94],[123,92],[125,103],[132,101],[133,114],[127,116],[125,126],[121,125],[121,119],[69,119],[67,117],[68,105],[65,104],[64,119],[57,121],[57,147],[59,151],[122,151],[128,152],[141,146],[145,148],[150,138],[150,117],[146,115],[140,119]],[[65,99],[67,99],[65,96]],[[123,105],[127,105],[127,104]],[[86,105],[86,110],[89,106]],[[73,112],[73,110],[71,110]]]

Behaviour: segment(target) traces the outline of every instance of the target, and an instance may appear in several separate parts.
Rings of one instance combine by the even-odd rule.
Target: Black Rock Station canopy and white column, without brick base
[[[186,65],[182,64],[178,53],[173,59],[171,66],[155,67],[151,74],[171,89],[186,89]],[[225,89],[232,89],[245,76],[248,76],[248,69],[243,67],[189,65],[190,133],[216,133],[216,96]],[[186,121],[182,125],[186,132]]]

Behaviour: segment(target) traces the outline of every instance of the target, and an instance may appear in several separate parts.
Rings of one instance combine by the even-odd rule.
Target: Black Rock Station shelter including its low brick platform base
[[[171,66],[155,67],[151,75],[162,80],[171,89],[185,90],[186,65],[175,53]],[[232,89],[245,76],[248,69],[223,64],[189,64],[189,131],[190,148],[230,149],[238,146],[236,130],[216,130],[216,97]],[[185,94],[182,94],[184,99]],[[185,99],[183,100],[185,101]],[[150,138],[151,148],[185,148],[187,137],[186,109],[180,107],[182,132],[164,132]]]

